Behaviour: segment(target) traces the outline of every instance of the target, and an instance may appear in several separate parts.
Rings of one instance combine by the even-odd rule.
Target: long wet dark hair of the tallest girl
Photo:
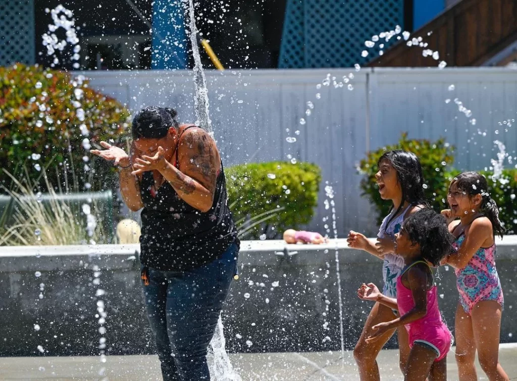
[[[420,164],[418,156],[412,152],[395,149],[392,151],[386,151],[383,156],[381,156],[377,162],[379,167],[383,160],[388,160],[397,171],[397,178],[402,189],[402,203],[386,223],[387,228],[390,222],[402,210],[405,201],[413,206],[422,205],[424,207],[429,207],[429,203],[427,199],[425,199],[423,192],[424,179],[422,165]],[[393,208],[391,210],[393,210]]]

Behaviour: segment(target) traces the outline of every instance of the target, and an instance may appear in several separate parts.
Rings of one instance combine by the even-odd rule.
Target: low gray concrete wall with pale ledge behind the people
[[[336,247],[345,348],[353,348],[372,307],[356,297],[357,287],[362,282],[380,286],[382,264],[370,254],[346,248],[344,240],[319,247],[244,241],[240,279],[234,281],[223,311],[227,348],[231,352],[338,350]],[[285,255],[284,248],[292,255]],[[107,312],[103,335],[107,354],[153,353],[136,255],[138,245],[0,247],[0,355],[41,355],[38,345],[45,355],[98,355],[98,300]],[[517,237],[498,242],[497,268],[506,300],[501,342],[512,342],[517,337],[513,318]],[[458,301],[452,269],[440,268],[436,281],[440,308],[452,329]],[[96,296],[99,288],[104,295]],[[394,345],[392,339],[389,346]]]

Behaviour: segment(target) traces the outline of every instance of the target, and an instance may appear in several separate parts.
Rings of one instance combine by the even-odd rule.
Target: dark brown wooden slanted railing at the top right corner
[[[462,0],[425,24],[413,37],[422,37],[427,48],[394,45],[368,66],[435,67],[423,49],[438,51],[447,66],[478,66],[517,40],[517,0]]]

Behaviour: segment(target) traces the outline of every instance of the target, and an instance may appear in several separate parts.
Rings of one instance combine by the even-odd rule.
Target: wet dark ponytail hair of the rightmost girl
[[[481,194],[480,212],[492,222],[492,230],[495,235],[503,238],[505,227],[499,220],[499,208],[488,193],[486,178],[477,172],[463,172],[454,177],[451,186],[455,184],[458,190],[465,192],[469,197]]]

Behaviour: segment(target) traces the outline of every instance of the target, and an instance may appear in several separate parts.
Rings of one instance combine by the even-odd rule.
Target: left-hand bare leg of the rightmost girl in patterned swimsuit
[[[458,303],[455,319],[456,363],[460,381],[478,379],[476,373],[476,342],[472,330],[472,317]]]

